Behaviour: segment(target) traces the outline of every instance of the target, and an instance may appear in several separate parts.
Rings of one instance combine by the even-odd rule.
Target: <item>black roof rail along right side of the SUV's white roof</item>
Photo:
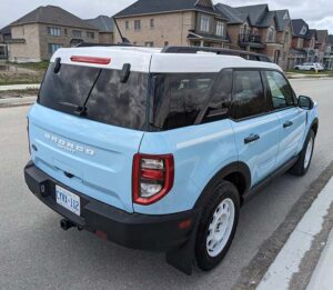
[[[270,58],[265,54],[260,54],[255,52],[235,50],[235,49],[222,49],[222,48],[208,48],[208,47],[165,47],[161,51],[162,53],[198,53],[198,52],[212,52],[223,56],[235,56],[241,57],[246,60],[272,62]]]

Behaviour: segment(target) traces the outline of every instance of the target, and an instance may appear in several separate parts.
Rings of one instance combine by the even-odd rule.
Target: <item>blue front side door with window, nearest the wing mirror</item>
[[[269,100],[280,121],[278,167],[283,166],[302,150],[306,112],[296,106],[295,94],[284,76],[279,71],[265,71]]]

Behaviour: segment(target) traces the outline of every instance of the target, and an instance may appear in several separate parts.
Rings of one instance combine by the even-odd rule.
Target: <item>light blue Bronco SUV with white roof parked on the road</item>
[[[206,50],[56,52],[28,114],[24,176],[64,230],[206,271],[249,197],[278,174],[306,173],[316,104],[255,54]]]

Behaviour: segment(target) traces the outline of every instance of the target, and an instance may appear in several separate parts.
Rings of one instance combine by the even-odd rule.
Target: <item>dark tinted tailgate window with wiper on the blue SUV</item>
[[[51,63],[39,93],[39,103],[78,116],[85,106],[84,118],[118,127],[144,130],[148,73],[131,71],[120,81],[120,70],[61,64],[54,73]]]

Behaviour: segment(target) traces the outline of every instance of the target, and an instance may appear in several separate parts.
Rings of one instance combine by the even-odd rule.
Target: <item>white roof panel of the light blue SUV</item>
[[[172,72],[219,72],[225,68],[269,68],[281,70],[275,63],[245,60],[241,57],[215,53],[162,53],[162,49],[141,47],[89,47],[59,49],[51,58],[61,58],[61,63],[121,70],[124,63],[132,71]],[[109,64],[72,62],[71,57],[110,58]]]

